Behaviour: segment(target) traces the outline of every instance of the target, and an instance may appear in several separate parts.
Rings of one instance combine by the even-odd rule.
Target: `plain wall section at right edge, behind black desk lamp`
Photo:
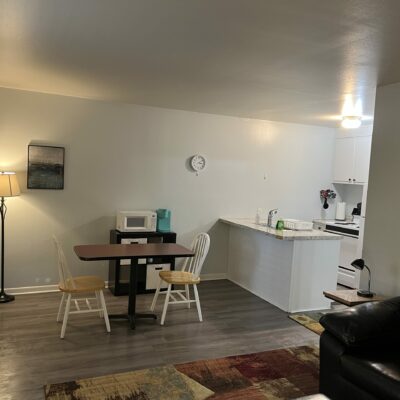
[[[378,88],[363,257],[372,270],[372,289],[388,296],[400,295],[399,110],[400,83]]]

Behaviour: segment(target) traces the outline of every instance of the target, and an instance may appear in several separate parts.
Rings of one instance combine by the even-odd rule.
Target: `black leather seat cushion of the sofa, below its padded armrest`
[[[343,355],[341,368],[344,378],[378,399],[400,400],[399,350]]]

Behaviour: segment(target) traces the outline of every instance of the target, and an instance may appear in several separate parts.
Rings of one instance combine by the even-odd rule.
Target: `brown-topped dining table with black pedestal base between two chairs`
[[[74,247],[75,254],[83,261],[130,259],[129,299],[127,314],[111,314],[110,319],[127,319],[135,329],[138,318],[157,319],[155,314],[136,313],[137,267],[139,258],[193,257],[192,250],[176,243],[148,244],[93,244]]]

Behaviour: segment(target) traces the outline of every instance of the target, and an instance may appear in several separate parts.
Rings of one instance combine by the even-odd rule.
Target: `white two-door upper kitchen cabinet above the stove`
[[[334,182],[368,182],[371,136],[336,139]]]

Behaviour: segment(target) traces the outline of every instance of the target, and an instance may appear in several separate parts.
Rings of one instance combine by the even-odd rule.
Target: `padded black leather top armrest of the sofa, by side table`
[[[397,343],[400,339],[400,297],[325,314],[320,323],[346,346]]]

